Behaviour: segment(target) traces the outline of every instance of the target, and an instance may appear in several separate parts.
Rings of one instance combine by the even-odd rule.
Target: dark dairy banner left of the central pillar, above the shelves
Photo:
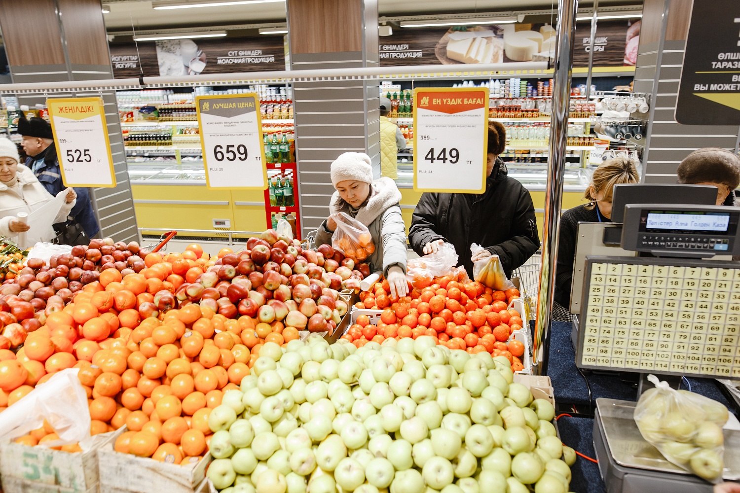
[[[284,70],[283,36],[168,39],[111,44],[115,78]]]

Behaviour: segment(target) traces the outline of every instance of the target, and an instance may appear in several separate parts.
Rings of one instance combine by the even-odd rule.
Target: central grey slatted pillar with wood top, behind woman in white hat
[[[292,69],[378,67],[377,0],[288,0],[287,11]],[[380,177],[380,88],[361,79],[296,82],[293,98],[306,237],[329,216],[329,166],[340,154],[367,152]]]

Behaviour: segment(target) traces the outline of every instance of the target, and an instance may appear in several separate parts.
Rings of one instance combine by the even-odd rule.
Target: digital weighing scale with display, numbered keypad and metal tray
[[[652,256],[586,256],[576,366],[740,378],[740,209],[630,204],[621,247]],[[642,386],[641,386],[642,387]],[[608,493],[711,492],[642,438],[636,403],[597,399],[593,444]],[[725,432],[724,478],[740,478],[740,432]]]

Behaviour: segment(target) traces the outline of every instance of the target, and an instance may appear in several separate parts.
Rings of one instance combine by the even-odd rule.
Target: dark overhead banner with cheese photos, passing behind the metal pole
[[[634,66],[640,21],[599,21],[593,67]],[[591,22],[576,24],[573,66],[588,67]],[[380,65],[500,64],[548,61],[555,57],[551,24],[399,28],[380,37]]]

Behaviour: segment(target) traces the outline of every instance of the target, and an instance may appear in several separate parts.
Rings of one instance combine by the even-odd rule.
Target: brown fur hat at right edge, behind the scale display
[[[679,183],[721,183],[734,190],[740,184],[740,157],[719,147],[704,147],[685,157],[676,173]]]

